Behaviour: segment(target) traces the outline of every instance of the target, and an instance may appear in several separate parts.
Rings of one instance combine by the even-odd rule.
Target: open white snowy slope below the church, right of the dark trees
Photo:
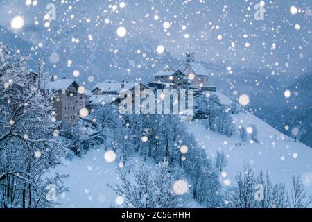
[[[220,92],[216,92],[222,103],[232,101]],[[290,185],[291,176],[297,174],[302,177],[306,189],[312,192],[312,148],[295,142],[290,137],[280,133],[272,126],[261,121],[250,112],[240,113],[233,116],[236,126],[247,128],[250,124],[257,126],[259,131],[259,144],[236,146],[239,142],[239,135],[227,137],[211,132],[205,128],[203,121],[189,123],[189,131],[196,137],[202,148],[205,148],[209,157],[213,157],[216,151],[222,150],[228,157],[228,164],[225,168],[227,177],[232,184],[235,175],[243,171],[244,163],[258,171],[269,170],[272,181],[286,182]]]

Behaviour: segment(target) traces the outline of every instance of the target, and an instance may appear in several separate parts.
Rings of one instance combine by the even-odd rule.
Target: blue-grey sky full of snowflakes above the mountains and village
[[[110,33],[107,45],[155,39],[177,58],[191,46],[196,59],[206,62],[268,68],[294,76],[312,67],[311,0],[262,1],[266,12],[259,21],[254,19],[254,6],[260,1],[250,0],[28,0],[30,6],[26,0],[0,2],[1,26],[34,44],[42,42],[42,48],[76,39],[76,44],[88,47],[90,39],[107,41],[104,36]],[[56,20],[46,28],[48,3],[56,6]],[[297,9],[293,10],[295,15],[290,11],[292,6]],[[14,31],[10,23],[17,15],[24,18],[25,25]],[[164,28],[168,24],[170,27]],[[123,40],[112,33],[119,26],[127,29]]]

